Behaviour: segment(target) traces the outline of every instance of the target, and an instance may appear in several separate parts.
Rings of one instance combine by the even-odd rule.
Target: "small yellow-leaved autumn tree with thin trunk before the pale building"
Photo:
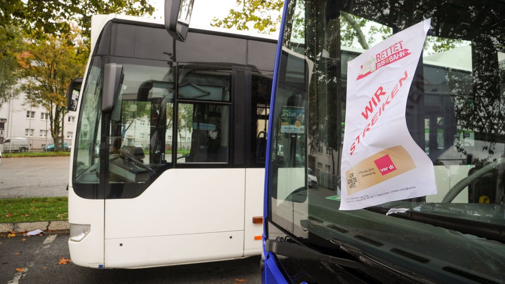
[[[68,84],[82,76],[88,54],[79,32],[73,30],[29,41],[26,50],[17,55],[20,89],[26,93],[27,103],[40,106],[49,114],[55,145],[64,128]]]

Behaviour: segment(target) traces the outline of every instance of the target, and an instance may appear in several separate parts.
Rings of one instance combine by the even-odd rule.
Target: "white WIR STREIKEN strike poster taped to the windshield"
[[[405,119],[429,28],[428,19],[348,62],[340,210],[436,194],[433,164]]]

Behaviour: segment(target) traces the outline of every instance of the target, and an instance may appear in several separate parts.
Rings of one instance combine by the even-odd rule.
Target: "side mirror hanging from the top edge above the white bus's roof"
[[[165,29],[176,40],[186,41],[194,0],[165,0]]]

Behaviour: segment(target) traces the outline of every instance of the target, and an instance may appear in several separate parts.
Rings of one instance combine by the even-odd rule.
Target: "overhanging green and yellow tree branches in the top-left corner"
[[[81,27],[88,44],[91,16],[121,13],[133,16],[152,14],[152,0],[4,0],[0,1],[0,103],[8,101],[18,81],[14,53],[19,52],[22,33],[30,40],[42,40],[57,34],[68,34],[71,25]],[[80,74],[82,76],[83,74]],[[68,82],[67,82],[68,83]]]

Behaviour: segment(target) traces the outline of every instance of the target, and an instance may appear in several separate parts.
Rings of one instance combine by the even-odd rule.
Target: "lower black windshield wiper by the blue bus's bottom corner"
[[[291,243],[279,240],[268,239],[265,243],[265,248],[267,252],[275,253],[276,255],[281,255],[289,258],[320,261],[325,263],[336,264],[342,267],[358,269],[362,272],[367,273],[368,275],[370,275],[375,279],[383,281],[384,283],[394,283],[394,282],[412,283],[412,284],[436,283],[420,275],[404,271],[401,268],[395,267],[393,265],[375,259],[367,255],[366,253],[356,248],[352,248],[348,245],[345,245],[335,239],[330,239],[330,242],[337,245],[340,250],[348,253],[356,260],[350,260],[340,257],[334,257],[327,254],[322,254],[316,250],[313,250],[306,246],[299,245],[297,243]]]

